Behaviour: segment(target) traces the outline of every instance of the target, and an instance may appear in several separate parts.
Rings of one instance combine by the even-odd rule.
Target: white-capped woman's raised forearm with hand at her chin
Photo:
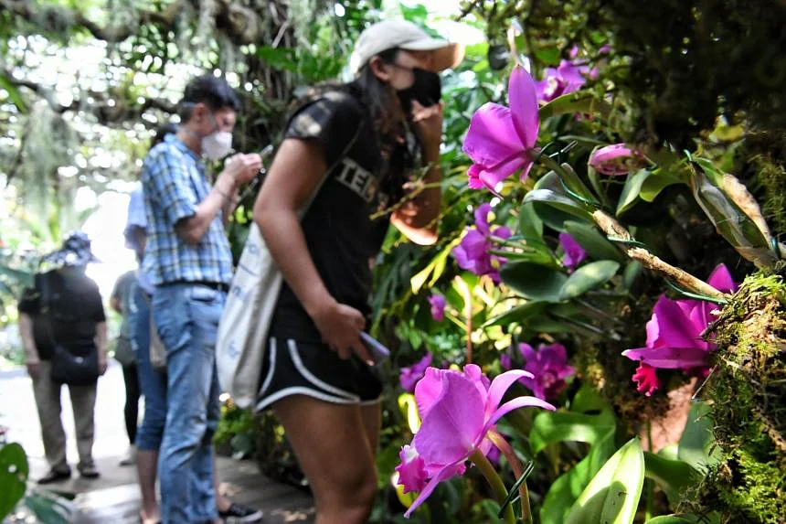
[[[429,170],[419,183],[407,187],[409,195],[390,221],[410,241],[427,246],[437,241],[440,217],[442,106],[423,107],[417,101],[412,104],[412,123],[423,148],[422,163]]]

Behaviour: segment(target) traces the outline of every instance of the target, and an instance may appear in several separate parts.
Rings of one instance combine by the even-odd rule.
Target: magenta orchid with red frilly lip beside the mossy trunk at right
[[[724,264],[720,264],[707,280],[711,286],[724,293],[734,293],[737,284]],[[715,350],[713,342],[707,342],[701,334],[715,318],[712,311],[717,305],[699,300],[671,300],[665,295],[658,299],[653,317],[647,322],[645,348],[623,351],[622,355],[639,360],[651,368],[683,369],[704,371],[709,367],[710,353]],[[634,377],[642,387],[643,374],[649,370],[637,370]],[[652,378],[647,378],[648,383]]]

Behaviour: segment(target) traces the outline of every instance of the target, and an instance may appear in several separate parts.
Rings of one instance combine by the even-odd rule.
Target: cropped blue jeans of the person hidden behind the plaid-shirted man
[[[158,451],[166,422],[166,375],[150,364],[150,300],[142,286],[132,288],[131,346],[136,357],[139,388],[144,397],[144,415],[136,432],[136,447]]]

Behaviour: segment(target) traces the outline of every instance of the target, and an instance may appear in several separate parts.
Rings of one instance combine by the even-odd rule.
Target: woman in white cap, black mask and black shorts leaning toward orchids
[[[294,113],[254,207],[285,281],[257,407],[271,407],[284,425],[318,524],[365,522],[373,505],[382,385],[361,341],[369,260],[390,222],[411,241],[436,241],[437,73],[462,55],[409,22],[368,27],[350,62],[356,80]]]

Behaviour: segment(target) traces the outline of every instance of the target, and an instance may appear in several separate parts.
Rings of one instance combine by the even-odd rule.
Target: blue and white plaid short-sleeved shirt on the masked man
[[[221,213],[196,246],[175,231],[175,224],[193,217],[210,192],[205,166],[197,155],[174,134],[166,135],[144,159],[142,185],[147,219],[143,272],[151,283],[229,283],[232,252]]]

